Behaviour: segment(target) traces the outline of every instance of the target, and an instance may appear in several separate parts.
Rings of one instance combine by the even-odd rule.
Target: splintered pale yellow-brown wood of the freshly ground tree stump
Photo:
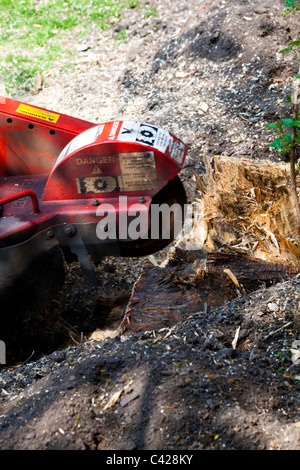
[[[289,165],[224,156],[206,158],[205,164],[206,173],[195,174],[205,248],[299,266]]]

